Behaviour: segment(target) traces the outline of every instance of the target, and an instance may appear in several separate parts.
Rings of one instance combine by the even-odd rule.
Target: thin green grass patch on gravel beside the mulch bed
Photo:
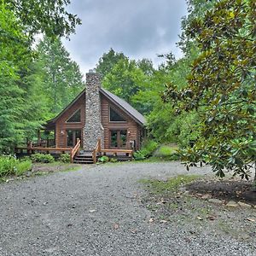
[[[141,183],[148,184],[149,189],[154,194],[162,194],[176,191],[179,187],[191,183],[200,177],[199,175],[178,175],[177,177],[169,178],[167,181],[143,179]]]

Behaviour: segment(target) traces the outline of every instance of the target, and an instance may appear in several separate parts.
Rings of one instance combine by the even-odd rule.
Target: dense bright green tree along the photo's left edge
[[[30,87],[27,93],[29,83],[24,80],[32,61],[30,44],[20,20],[4,4],[0,5],[0,28],[0,152],[3,152],[14,148],[39,123],[28,118],[29,108],[38,113],[33,105],[38,102],[33,99],[35,87]]]

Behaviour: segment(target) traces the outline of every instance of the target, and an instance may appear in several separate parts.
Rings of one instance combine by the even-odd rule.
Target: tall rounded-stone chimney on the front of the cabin
[[[86,73],[84,150],[93,150],[98,138],[103,143],[100,88],[100,74],[90,70]]]

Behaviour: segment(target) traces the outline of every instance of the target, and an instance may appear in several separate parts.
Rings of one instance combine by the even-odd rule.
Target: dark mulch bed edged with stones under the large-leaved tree
[[[244,201],[256,205],[252,183],[244,180],[199,180],[186,186],[190,194],[207,194],[225,201]]]

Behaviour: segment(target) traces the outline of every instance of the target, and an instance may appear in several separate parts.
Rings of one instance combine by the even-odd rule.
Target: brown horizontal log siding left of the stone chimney
[[[80,123],[66,123],[67,119],[72,116],[79,108],[81,108],[81,122]],[[85,124],[85,100],[84,94],[79,97],[78,101],[74,102],[73,106],[67,108],[67,110],[56,120],[55,135],[56,135],[56,147],[67,148],[67,130],[81,130],[83,142],[83,128]],[[61,131],[64,134],[61,135]]]

